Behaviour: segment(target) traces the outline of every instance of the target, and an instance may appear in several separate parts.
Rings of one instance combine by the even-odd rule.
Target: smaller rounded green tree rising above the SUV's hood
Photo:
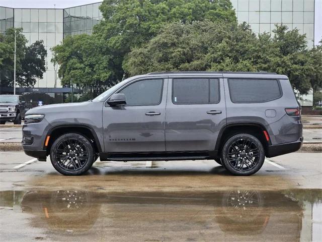
[[[52,51],[52,61],[60,65],[58,76],[62,85],[112,85],[116,80],[119,71],[114,69],[110,50],[96,35],[68,36]]]

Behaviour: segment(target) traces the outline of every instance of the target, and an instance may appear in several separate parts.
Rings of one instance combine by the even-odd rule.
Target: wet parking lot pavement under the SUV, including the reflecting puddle
[[[97,161],[63,176],[0,153],[3,241],[321,241],[322,159],[266,159],[253,176],[212,160]]]

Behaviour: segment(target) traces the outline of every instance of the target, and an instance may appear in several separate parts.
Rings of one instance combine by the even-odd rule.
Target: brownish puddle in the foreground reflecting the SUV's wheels
[[[322,190],[3,191],[0,213],[5,241],[322,241]]]

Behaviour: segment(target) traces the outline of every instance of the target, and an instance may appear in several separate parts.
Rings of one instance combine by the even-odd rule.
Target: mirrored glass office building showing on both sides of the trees
[[[272,32],[275,24],[297,28],[306,34],[308,46],[314,39],[314,0],[230,0],[238,22],[247,22],[255,33]],[[69,35],[91,34],[93,26],[102,20],[101,2],[67,9],[12,9],[0,7],[0,32],[11,27],[22,27],[32,44],[43,40],[48,56],[46,72],[37,80],[35,88],[61,87],[58,67],[51,63],[51,47]],[[56,77],[56,78],[55,78]],[[56,81],[55,81],[56,80]]]

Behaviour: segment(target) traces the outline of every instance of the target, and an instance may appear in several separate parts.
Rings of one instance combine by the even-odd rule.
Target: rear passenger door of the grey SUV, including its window
[[[169,79],[166,151],[212,151],[226,124],[222,75]]]

